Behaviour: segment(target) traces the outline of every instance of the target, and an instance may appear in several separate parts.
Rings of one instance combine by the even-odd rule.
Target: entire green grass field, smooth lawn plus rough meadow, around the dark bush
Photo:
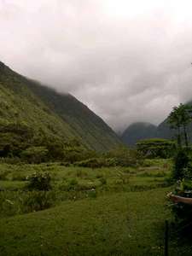
[[[165,160],[135,169],[1,165],[0,255],[164,255],[170,167]],[[25,177],[37,170],[51,173],[55,204],[18,214]],[[170,255],[191,255],[176,242]]]

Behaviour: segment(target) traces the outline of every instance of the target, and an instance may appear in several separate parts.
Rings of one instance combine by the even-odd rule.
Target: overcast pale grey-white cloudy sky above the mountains
[[[192,99],[191,0],[0,0],[0,61],[114,130]]]

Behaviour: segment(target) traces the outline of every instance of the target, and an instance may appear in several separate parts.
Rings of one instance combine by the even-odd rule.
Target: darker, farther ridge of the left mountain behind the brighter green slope
[[[54,113],[66,120],[73,131],[78,131],[90,148],[108,149],[120,143],[112,129],[74,96],[59,94],[40,84],[31,84],[31,89]]]

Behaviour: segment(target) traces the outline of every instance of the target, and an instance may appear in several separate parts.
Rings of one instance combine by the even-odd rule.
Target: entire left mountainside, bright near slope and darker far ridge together
[[[2,62],[0,107],[3,130],[15,124],[21,130],[32,131],[37,139],[42,135],[63,141],[76,137],[87,148],[96,150],[110,149],[120,143],[112,129],[75,97],[26,79]]]

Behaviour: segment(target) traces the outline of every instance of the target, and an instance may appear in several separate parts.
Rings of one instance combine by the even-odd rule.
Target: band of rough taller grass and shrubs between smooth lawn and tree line
[[[161,163],[162,162],[162,163]],[[165,164],[163,164],[165,163]],[[66,167],[62,163],[0,165],[0,215],[15,215],[121,191],[144,191],[165,186],[166,160],[140,167]],[[160,165],[160,169],[156,166]],[[154,166],[154,167],[153,167]],[[153,169],[154,168],[154,169]],[[147,170],[148,167],[144,167]],[[160,172],[162,170],[162,172]],[[27,178],[26,178],[27,177]],[[51,178],[50,178],[51,177]]]

